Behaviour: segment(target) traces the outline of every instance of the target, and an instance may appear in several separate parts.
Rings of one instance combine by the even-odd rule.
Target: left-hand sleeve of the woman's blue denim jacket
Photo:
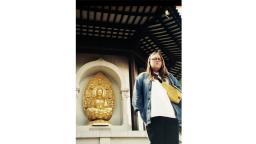
[[[136,78],[133,88],[132,106],[134,111],[141,111],[143,109],[143,80],[142,75]]]

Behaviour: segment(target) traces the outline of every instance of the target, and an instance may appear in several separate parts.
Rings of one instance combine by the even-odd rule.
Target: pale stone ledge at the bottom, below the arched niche
[[[149,144],[146,131],[123,131],[115,126],[77,127],[76,144]],[[180,144],[181,144],[180,135]]]

